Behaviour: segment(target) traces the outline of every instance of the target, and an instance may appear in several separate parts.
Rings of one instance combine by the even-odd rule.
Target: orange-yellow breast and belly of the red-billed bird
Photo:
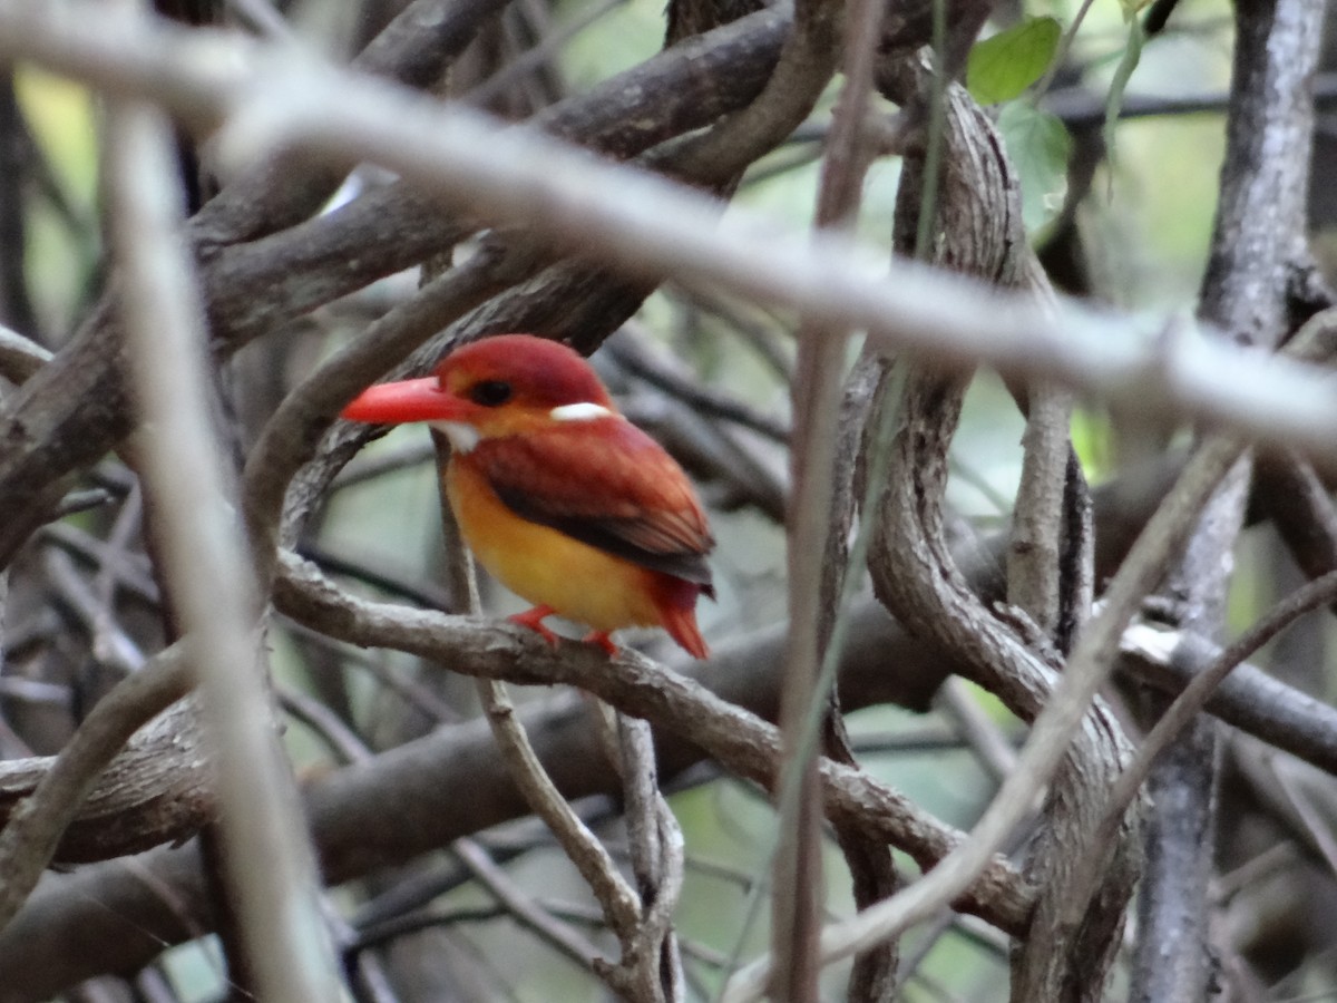
[[[465,543],[501,584],[594,630],[659,626],[660,572],[604,554],[507,508],[468,457],[447,468],[447,495]]]

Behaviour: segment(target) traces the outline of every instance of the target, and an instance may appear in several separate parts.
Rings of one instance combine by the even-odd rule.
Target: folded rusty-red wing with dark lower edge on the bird
[[[620,417],[484,439],[468,460],[521,519],[711,591],[715,540],[682,468]]]

